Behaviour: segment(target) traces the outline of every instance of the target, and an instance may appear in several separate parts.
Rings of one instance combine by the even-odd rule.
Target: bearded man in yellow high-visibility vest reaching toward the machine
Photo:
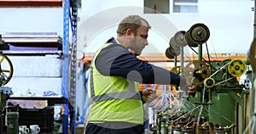
[[[96,52],[89,78],[86,134],[142,134],[143,101],[153,91],[139,93],[139,82],[172,84],[195,92],[183,77],[137,59],[148,45],[149,29],[147,20],[130,15],[119,23],[117,39],[112,37]]]

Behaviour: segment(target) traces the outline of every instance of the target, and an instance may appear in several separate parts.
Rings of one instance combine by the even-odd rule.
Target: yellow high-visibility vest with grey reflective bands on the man
[[[122,76],[105,76],[96,70],[95,59],[111,43],[101,47],[91,62],[89,122],[122,121],[143,125],[143,102],[138,83]]]

